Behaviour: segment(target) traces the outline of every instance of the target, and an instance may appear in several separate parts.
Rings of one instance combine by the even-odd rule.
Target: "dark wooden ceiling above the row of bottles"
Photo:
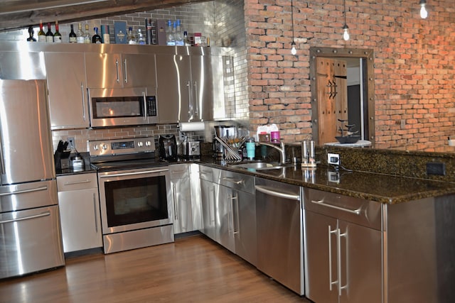
[[[208,0],[1,0],[0,31],[153,11]]]

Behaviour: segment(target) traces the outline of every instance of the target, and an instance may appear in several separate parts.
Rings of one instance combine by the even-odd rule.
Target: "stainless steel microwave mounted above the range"
[[[88,94],[91,127],[158,123],[155,89],[89,89]]]

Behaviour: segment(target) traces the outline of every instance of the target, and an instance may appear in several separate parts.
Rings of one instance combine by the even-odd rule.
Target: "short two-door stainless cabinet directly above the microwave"
[[[156,87],[154,54],[85,53],[87,87]]]

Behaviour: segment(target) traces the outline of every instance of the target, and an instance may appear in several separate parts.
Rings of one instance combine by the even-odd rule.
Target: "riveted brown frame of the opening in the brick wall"
[[[316,58],[363,58],[366,62],[366,75],[364,77],[367,89],[368,100],[368,140],[372,146],[375,145],[375,80],[374,80],[374,53],[370,49],[356,48],[310,48],[310,89],[311,89],[311,123],[312,135],[316,145],[319,144],[319,111],[318,111],[318,94],[316,87]],[[364,82],[364,86],[365,86]]]

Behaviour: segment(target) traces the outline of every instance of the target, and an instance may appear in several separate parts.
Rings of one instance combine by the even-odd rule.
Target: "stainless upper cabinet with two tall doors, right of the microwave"
[[[160,123],[213,119],[208,55],[156,55]]]

